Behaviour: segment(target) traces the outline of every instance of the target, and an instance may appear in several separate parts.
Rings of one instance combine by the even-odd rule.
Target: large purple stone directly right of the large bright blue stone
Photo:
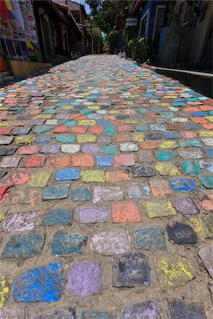
[[[100,262],[73,262],[68,274],[68,289],[72,296],[88,296],[102,291]]]

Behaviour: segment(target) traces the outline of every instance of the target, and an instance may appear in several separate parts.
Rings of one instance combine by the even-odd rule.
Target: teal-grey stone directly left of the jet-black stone
[[[136,250],[165,250],[165,237],[161,227],[135,228],[133,235]]]

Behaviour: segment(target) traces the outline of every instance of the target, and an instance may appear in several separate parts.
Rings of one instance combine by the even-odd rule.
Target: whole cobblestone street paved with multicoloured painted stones
[[[0,318],[212,319],[212,100],[115,55],[0,100]]]

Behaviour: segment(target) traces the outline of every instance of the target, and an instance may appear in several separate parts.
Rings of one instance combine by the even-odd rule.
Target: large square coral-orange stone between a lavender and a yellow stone
[[[112,205],[114,223],[138,223],[141,215],[138,206],[134,203],[114,203]]]

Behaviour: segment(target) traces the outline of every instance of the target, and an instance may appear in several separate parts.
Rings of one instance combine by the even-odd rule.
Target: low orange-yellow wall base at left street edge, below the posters
[[[40,69],[46,69],[51,67],[51,63],[31,62],[31,61],[16,61],[7,60],[11,67],[14,77],[23,77],[24,75],[33,74],[40,71]]]

